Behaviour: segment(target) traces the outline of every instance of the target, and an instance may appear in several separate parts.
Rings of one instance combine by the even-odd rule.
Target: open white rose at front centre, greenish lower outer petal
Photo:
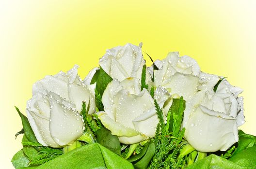
[[[160,105],[169,97],[161,89],[156,96]],[[141,91],[139,79],[113,80],[103,93],[102,103],[105,112],[99,112],[98,118],[121,143],[134,144],[155,136],[159,120],[154,99],[146,89]]]

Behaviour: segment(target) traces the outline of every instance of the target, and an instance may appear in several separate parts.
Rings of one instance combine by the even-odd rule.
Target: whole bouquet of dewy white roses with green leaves
[[[84,80],[75,65],[33,84],[14,167],[256,169],[242,89],[177,52],[146,67],[141,47],[107,50]]]

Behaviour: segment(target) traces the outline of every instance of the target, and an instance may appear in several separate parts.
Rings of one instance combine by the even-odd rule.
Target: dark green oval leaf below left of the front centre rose
[[[102,127],[97,130],[97,142],[104,147],[108,148],[115,154],[121,155],[121,145],[117,136],[111,134],[111,131]]]

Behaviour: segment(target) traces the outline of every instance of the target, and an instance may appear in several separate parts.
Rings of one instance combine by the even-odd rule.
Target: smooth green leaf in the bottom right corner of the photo
[[[232,155],[229,160],[247,169],[256,169],[256,146],[244,149],[236,155]]]

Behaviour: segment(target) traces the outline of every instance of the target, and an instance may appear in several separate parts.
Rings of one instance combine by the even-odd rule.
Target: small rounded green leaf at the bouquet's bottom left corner
[[[21,167],[28,167],[30,161],[21,149],[13,156],[11,162],[13,163],[13,166],[17,169]]]

